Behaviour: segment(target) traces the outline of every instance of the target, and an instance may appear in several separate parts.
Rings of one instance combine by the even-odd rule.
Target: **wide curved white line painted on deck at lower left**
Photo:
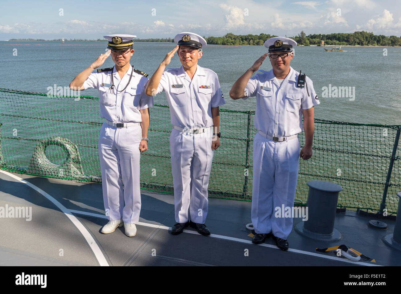
[[[59,207],[59,209],[70,219],[70,221],[74,224],[75,227],[79,230],[79,232],[82,234],[82,236],[85,238],[86,242],[88,243],[89,247],[91,248],[93,254],[95,254],[95,257],[97,259],[97,262],[99,262],[100,266],[109,266],[107,263],[106,258],[104,257],[103,253],[101,252],[99,246],[97,245],[95,239],[89,234],[88,230],[79,222],[77,217],[72,214],[72,211],[70,209],[67,209],[64,205],[62,205],[59,201],[54,199],[51,195],[43,191],[41,188],[36,187],[34,184],[25,181],[24,179],[13,175],[12,173],[8,173],[7,171],[2,171],[0,170],[1,173],[4,173],[5,175],[8,175],[9,177],[12,177],[13,179],[16,179],[17,181],[20,181],[21,183],[24,183],[34,189],[36,192],[41,193],[43,196],[45,196],[47,199],[49,199],[54,205]],[[94,214],[94,213],[93,213]]]

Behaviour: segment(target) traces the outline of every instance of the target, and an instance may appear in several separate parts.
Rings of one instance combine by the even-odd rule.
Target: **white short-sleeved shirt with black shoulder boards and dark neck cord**
[[[132,78],[130,84],[122,92]],[[114,86],[110,93],[111,75]],[[153,97],[145,94],[144,86],[149,79],[132,70],[132,66],[120,79],[115,67],[104,72],[92,72],[83,83],[85,89],[99,89],[100,116],[115,123],[138,123],[142,121],[141,109],[153,106]]]

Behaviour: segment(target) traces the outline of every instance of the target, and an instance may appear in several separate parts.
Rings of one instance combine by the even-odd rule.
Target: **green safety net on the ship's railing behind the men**
[[[254,118],[254,111],[220,110],[221,146],[213,158],[210,197],[252,199]],[[97,145],[103,121],[99,98],[0,88],[0,123],[1,169],[101,182]],[[142,189],[173,193],[171,129],[168,106],[152,107],[149,149],[140,160]],[[308,181],[322,180],[341,185],[338,207],[373,212],[386,208],[388,213],[396,213],[397,192],[401,191],[400,130],[399,125],[315,119],[313,156],[300,159],[295,203],[306,204]],[[303,146],[304,133],[299,138]]]

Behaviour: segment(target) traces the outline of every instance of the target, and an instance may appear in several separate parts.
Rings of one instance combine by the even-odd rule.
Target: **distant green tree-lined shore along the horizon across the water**
[[[235,35],[233,33],[225,34],[222,37],[203,37],[206,42],[211,45],[263,45],[265,40],[275,37],[270,34],[259,35]],[[401,46],[401,37],[375,35],[373,32],[353,32],[353,33],[333,33],[333,34],[309,34],[306,36],[304,31],[301,31],[298,36],[289,37],[294,39],[299,45],[316,46],[324,41],[324,45],[328,46]],[[44,39],[10,39],[9,41],[59,41],[44,40]],[[65,39],[65,42],[72,41],[101,41],[107,42],[105,39],[87,40],[87,39]],[[171,42],[174,43],[174,38],[148,38],[134,39],[134,42]]]

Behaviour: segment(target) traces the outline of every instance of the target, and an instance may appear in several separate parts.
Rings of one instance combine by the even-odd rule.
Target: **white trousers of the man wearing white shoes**
[[[141,210],[139,144],[141,139],[140,125],[116,128],[103,123],[101,127],[100,169],[104,208],[109,220],[123,219],[130,224],[139,221]]]

